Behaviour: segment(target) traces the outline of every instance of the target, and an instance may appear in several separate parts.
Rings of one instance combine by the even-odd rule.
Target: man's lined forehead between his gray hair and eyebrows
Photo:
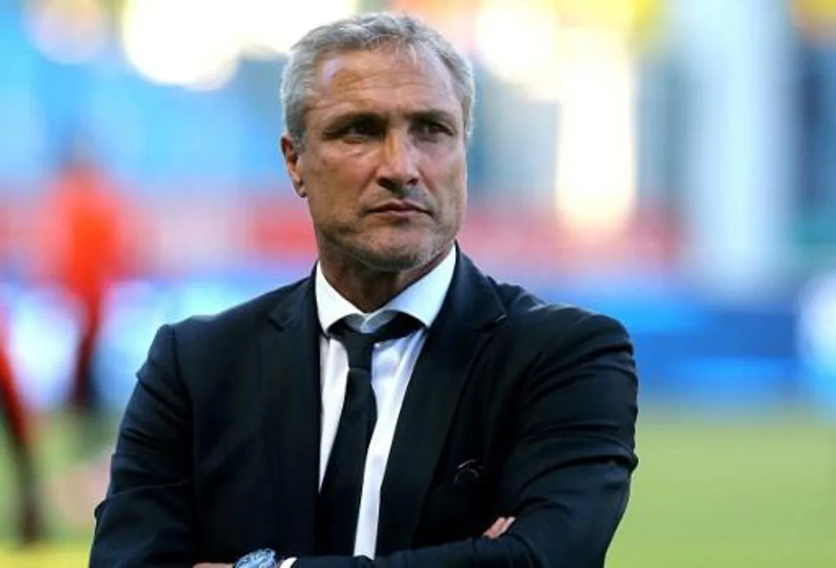
[[[317,63],[308,111],[320,119],[358,110],[391,114],[427,109],[461,119],[450,70],[434,53],[378,48],[331,53]]]

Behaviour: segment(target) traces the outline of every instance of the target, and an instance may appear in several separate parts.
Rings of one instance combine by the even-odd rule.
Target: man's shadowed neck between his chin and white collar
[[[374,312],[443,261],[452,244],[423,266],[405,271],[381,271],[356,259],[319,252],[319,266],[334,290],[364,313]]]

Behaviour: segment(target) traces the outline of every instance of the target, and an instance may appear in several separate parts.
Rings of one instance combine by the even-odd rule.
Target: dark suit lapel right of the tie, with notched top
[[[461,389],[492,324],[502,317],[489,281],[460,253],[400,408],[380,489],[377,555],[411,545]]]

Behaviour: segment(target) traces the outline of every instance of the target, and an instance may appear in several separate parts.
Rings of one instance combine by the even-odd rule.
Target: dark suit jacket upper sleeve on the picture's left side
[[[191,403],[178,372],[175,332],[161,327],[137,373],[95,510],[91,568],[191,566]]]

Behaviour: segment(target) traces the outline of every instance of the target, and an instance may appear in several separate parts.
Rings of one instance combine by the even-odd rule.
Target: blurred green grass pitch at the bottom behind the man
[[[61,421],[42,431],[58,474]],[[640,467],[609,568],[836,568],[836,431],[803,413],[695,418],[643,413]],[[86,565],[89,535],[51,520],[56,540],[16,550],[0,445],[0,566]]]

